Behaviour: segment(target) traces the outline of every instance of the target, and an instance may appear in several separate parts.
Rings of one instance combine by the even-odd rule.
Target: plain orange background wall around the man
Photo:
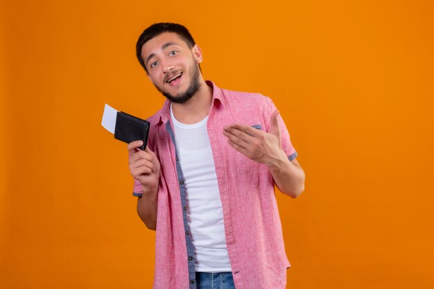
[[[306,171],[277,193],[287,288],[434,288],[433,1],[1,1],[0,288],[151,288],[104,103],[161,107],[141,31],[186,25],[202,71],[279,108]]]

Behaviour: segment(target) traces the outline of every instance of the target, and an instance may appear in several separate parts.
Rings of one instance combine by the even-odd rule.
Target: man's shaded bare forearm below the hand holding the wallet
[[[137,213],[146,227],[155,231],[157,228],[158,188],[149,190],[143,187],[142,191],[141,197],[137,200]]]

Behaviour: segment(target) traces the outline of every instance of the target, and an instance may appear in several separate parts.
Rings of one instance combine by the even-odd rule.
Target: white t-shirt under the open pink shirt
[[[196,254],[196,271],[229,272],[223,208],[207,132],[208,116],[199,123],[186,125],[175,119],[171,107],[171,118],[186,186],[187,221]]]

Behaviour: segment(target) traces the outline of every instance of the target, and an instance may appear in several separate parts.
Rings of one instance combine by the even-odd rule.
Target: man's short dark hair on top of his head
[[[189,46],[189,48],[193,47],[196,42],[193,40],[193,37],[189,33],[189,30],[185,28],[185,26],[182,26],[181,24],[175,24],[175,23],[155,23],[148,28],[144,30],[143,33],[141,33],[139,40],[137,40],[136,44],[136,55],[137,59],[140,62],[141,67],[143,67],[148,73],[148,69],[146,69],[145,62],[143,58],[141,58],[141,48],[144,46],[146,42],[153,39],[154,37],[164,33],[164,32],[173,32],[179,35]]]

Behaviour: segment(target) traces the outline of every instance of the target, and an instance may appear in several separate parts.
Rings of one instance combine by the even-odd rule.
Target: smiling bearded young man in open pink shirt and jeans
[[[205,81],[180,24],[144,30],[137,58],[167,98],[146,150],[128,144],[137,212],[156,230],[154,289],[284,289],[274,188],[296,198],[304,172],[275,105]]]

